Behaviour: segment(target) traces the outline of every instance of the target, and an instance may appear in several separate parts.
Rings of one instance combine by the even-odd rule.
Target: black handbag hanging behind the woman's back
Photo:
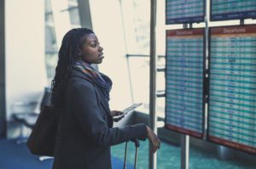
[[[54,156],[57,121],[49,106],[44,106],[27,140],[26,146],[34,155]]]

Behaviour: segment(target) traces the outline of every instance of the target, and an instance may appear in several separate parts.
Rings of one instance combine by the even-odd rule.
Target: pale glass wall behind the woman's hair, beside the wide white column
[[[61,39],[68,30],[80,27],[77,0],[45,0],[45,66],[48,83],[55,76]]]

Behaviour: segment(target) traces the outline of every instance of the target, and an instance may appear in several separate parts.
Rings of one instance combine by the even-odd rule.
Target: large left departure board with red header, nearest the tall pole
[[[204,29],[166,31],[166,128],[203,137]]]

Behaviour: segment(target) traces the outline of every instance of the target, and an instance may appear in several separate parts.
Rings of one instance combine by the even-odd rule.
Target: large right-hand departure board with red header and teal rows
[[[210,30],[208,139],[256,154],[256,25]]]

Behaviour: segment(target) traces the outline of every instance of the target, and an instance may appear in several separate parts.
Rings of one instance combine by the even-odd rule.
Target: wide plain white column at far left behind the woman
[[[44,0],[5,1],[7,120],[15,101],[35,101],[44,92]]]

